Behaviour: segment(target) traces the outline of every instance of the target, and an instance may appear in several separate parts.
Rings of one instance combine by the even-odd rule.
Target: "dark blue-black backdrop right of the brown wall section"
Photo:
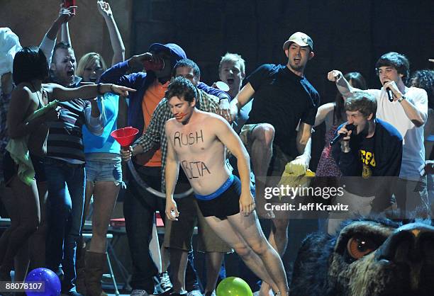
[[[315,57],[305,75],[321,95],[333,101],[335,84],[327,73],[360,72],[369,88],[379,88],[377,59],[396,51],[410,59],[411,72],[430,66],[433,52],[434,1],[391,0],[134,0],[131,55],[153,42],[174,42],[201,69],[201,81],[218,81],[218,63],[226,52],[240,54],[246,75],[260,64],[286,64],[282,45],[301,31],[313,39]],[[432,63],[431,63],[432,64]],[[311,169],[323,147],[324,126],[313,135]]]

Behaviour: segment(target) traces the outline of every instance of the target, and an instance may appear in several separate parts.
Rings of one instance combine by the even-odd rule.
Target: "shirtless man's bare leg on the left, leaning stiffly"
[[[236,215],[231,217],[235,217],[235,216]],[[258,254],[256,254],[255,251],[253,251],[253,249],[250,247],[250,244],[247,244],[247,241],[245,241],[243,235],[240,234],[238,230],[233,227],[233,224],[230,223],[229,220],[220,220],[217,217],[205,217],[205,219],[206,222],[208,222],[210,227],[213,229],[213,231],[216,232],[218,237],[221,237],[223,241],[226,241],[226,243],[229,246],[235,249],[237,254],[243,259],[245,264],[250,268],[250,270],[253,273],[255,273],[264,282],[269,283],[269,285],[272,286],[273,290],[275,291],[279,290],[279,286],[276,283],[274,283],[274,281],[272,280],[272,276],[270,276],[268,269],[266,268],[264,262],[262,261],[262,258],[258,256]],[[269,245],[263,234],[262,234],[261,241]],[[269,246],[269,249],[274,251],[271,246]],[[276,251],[274,251],[274,253],[276,253]],[[277,256],[277,261],[279,261],[280,258],[279,255],[277,255],[277,253],[276,256]],[[282,272],[284,273],[283,265],[282,265]]]

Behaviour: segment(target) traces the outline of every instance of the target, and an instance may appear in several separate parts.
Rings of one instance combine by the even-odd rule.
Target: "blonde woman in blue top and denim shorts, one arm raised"
[[[114,52],[111,62],[112,64],[123,62],[125,47],[110,5],[107,2],[98,1],[97,7],[109,29]],[[66,25],[62,28],[62,38],[64,42],[71,42]],[[94,83],[99,80],[99,76],[106,69],[104,58],[99,53],[89,52],[79,60],[77,76],[81,77],[83,82]],[[102,108],[100,101],[99,108],[100,110]],[[126,114],[125,99],[114,94],[106,95],[104,97],[104,110],[101,110],[101,113],[104,113],[105,116],[102,135],[92,135],[86,127],[83,128],[86,157],[86,199],[83,222],[87,216],[92,197],[94,210],[92,214],[92,239],[85,256],[85,268],[84,254],[82,254],[86,248],[84,244],[79,244],[82,247],[79,247],[77,251],[76,267],[77,291],[90,296],[106,295],[101,289],[101,278],[106,266],[106,234],[116,198],[121,186],[123,186],[121,157],[119,156],[121,147],[113,137],[110,137],[110,133],[118,128],[118,118],[123,118]]]

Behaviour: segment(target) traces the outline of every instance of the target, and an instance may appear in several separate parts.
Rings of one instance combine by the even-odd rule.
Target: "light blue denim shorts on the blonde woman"
[[[99,153],[86,154],[86,181],[114,181],[122,182],[121,156],[118,154]],[[112,155],[112,157],[107,157]]]

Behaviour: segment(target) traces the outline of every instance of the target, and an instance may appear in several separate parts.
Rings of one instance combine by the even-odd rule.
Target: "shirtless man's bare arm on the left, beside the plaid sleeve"
[[[166,217],[169,220],[177,220],[179,212],[177,210],[177,203],[173,198],[174,188],[177,185],[179,173],[179,159],[174,151],[173,144],[170,141],[170,122],[166,123],[166,137],[167,137],[167,156],[166,156],[166,169],[165,169],[165,183],[166,183]],[[173,212],[172,212],[173,211]]]

